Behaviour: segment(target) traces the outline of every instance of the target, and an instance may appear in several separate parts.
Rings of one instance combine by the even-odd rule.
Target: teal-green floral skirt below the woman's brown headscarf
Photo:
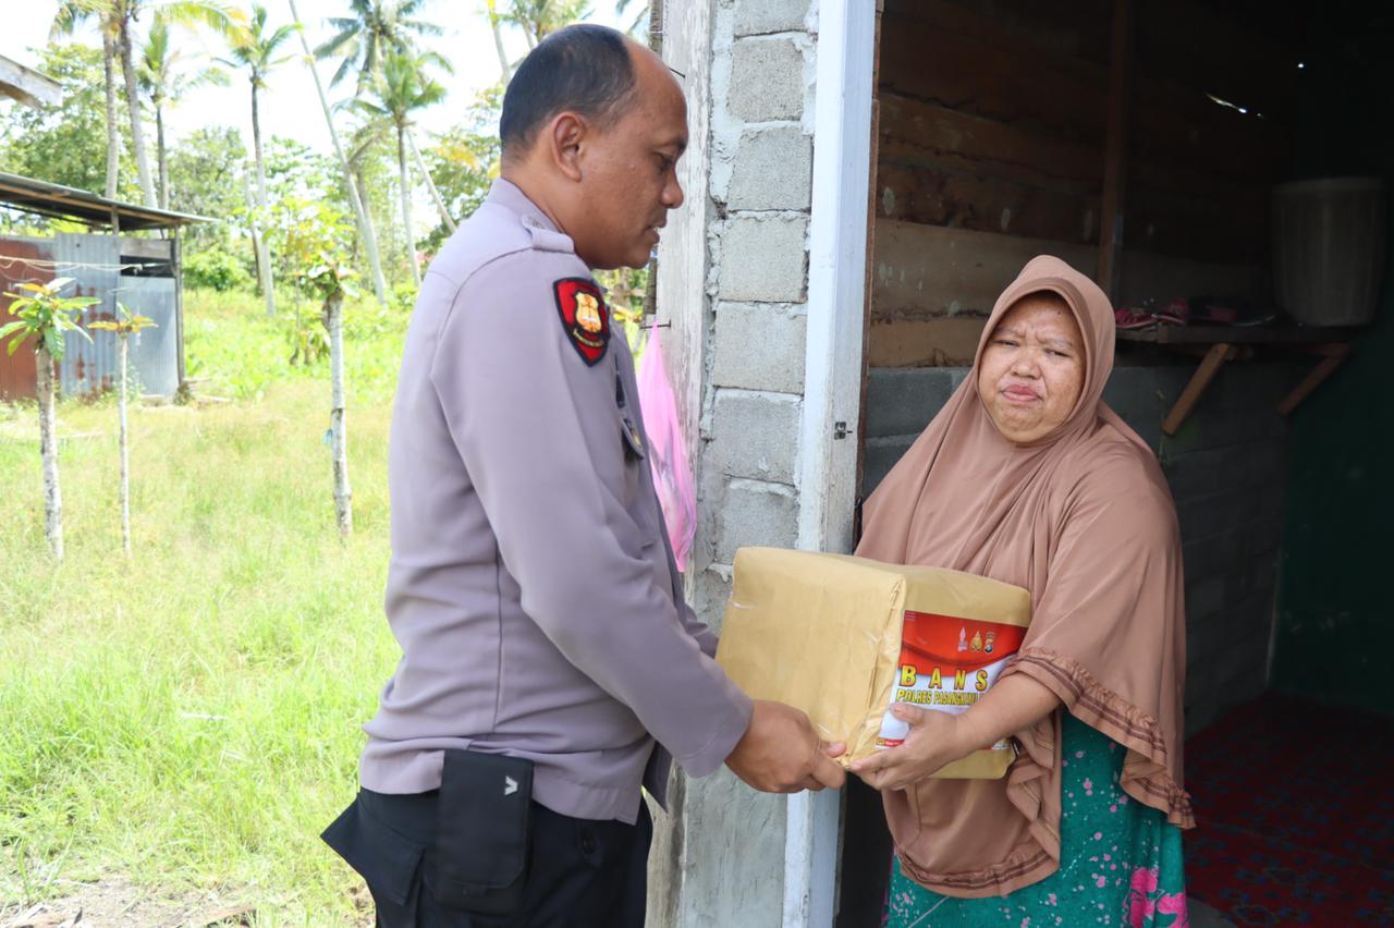
[[[1068,712],[1064,720],[1059,869],[1009,896],[952,899],[924,889],[896,861],[888,928],[1185,928],[1181,829],[1122,791],[1126,751]]]

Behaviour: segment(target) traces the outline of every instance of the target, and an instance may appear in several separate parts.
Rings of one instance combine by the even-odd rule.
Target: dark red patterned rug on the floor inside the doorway
[[[1394,925],[1394,719],[1269,694],[1186,744],[1188,892],[1236,925]]]

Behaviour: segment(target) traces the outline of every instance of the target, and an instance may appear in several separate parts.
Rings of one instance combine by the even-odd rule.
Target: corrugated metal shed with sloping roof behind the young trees
[[[74,219],[105,233],[57,233],[52,238],[0,235],[0,288],[72,277],[75,293],[98,297],[79,322],[86,326],[114,319],[117,302],[149,316],[146,329],[131,346],[131,369],[144,393],[174,396],[184,383],[184,301],[180,242],[169,235],[181,226],[213,222],[204,216],[137,206],[106,199],[82,190],[0,173],[0,203],[42,216]],[[163,230],[166,238],[132,238],[123,231]],[[0,297],[0,322],[8,318],[10,300]],[[59,365],[63,396],[85,396],[116,383],[117,339],[92,332],[92,341],[67,336]],[[0,353],[0,400],[35,394],[32,351]]]

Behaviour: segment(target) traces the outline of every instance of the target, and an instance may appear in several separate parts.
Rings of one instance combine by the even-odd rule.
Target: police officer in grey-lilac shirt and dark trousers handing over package
[[[592,269],[682,205],[682,91],[577,25],[519,67],[502,178],[432,262],[389,447],[386,613],[403,656],[325,840],[381,925],[643,925],[671,758],[841,786],[807,716],[751,702],[687,608],[634,369]],[[740,849],[733,849],[740,853]]]

